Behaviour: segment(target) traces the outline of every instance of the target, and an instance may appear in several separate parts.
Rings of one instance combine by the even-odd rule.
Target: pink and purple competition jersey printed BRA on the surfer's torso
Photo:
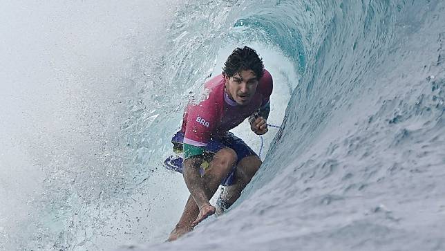
[[[264,70],[249,104],[241,106],[231,100],[224,90],[222,74],[205,83],[209,98],[199,104],[189,104],[184,113],[181,131],[185,133],[184,143],[203,147],[212,137],[218,138],[238,126],[246,118],[269,102],[272,94],[272,75]]]

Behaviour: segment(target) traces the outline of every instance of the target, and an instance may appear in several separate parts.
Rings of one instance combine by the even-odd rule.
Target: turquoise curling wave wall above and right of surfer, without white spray
[[[288,84],[281,129],[234,207],[153,248],[443,249],[444,8],[442,1],[187,6],[192,17],[176,30],[187,35],[176,44],[193,66],[180,73],[209,67],[225,44],[258,44],[260,53],[283,55],[272,75],[287,59],[299,80],[290,80],[296,87]]]

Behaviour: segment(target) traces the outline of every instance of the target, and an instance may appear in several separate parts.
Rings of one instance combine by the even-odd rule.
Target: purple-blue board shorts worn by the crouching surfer
[[[173,144],[176,143],[182,145],[183,140],[184,140],[184,133],[182,131],[178,131],[173,136],[173,138],[171,138],[171,142]],[[240,160],[242,160],[247,156],[258,156],[248,145],[246,145],[246,143],[243,140],[236,137],[234,133],[230,132],[227,132],[225,136],[223,136],[222,138],[218,139],[211,138],[207,143],[207,146],[205,146],[205,151],[216,154],[216,152],[225,147],[229,147],[230,149],[233,149],[236,152],[236,156],[238,157],[236,160],[236,164],[238,164]],[[167,160],[164,161],[164,164],[167,167],[167,169],[178,171],[179,173],[182,174],[183,161],[184,160],[181,157],[175,158],[173,156],[170,156],[169,158],[167,158]],[[200,171],[202,172],[202,170]],[[226,178],[224,178],[224,180],[221,182],[221,185],[223,186],[232,185],[235,178],[235,171],[236,171],[236,165],[234,165],[234,167],[231,168],[230,173],[227,175]]]

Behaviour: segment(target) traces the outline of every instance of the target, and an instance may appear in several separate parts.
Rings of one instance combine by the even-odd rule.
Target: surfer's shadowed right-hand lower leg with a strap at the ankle
[[[221,194],[221,198],[227,205],[235,203],[262,163],[258,156],[247,156],[238,162],[234,184],[225,187]]]

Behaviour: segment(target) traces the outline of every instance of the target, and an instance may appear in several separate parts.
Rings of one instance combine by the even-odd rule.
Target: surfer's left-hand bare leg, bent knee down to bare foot
[[[214,158],[209,164],[209,167],[205,170],[204,176],[202,177],[205,183],[205,193],[207,198],[210,199],[215,194],[221,181],[227,176],[227,174],[229,174],[229,171],[235,162],[236,153],[232,149],[224,148],[215,154]],[[202,215],[199,215],[200,211]],[[190,232],[193,230],[195,225],[207,218],[207,216],[214,214],[214,212],[215,207],[211,205],[206,205],[201,209],[198,208],[198,205],[196,205],[193,197],[189,196],[184,212],[182,213],[178,224],[176,224],[175,229],[171,232],[168,241],[174,241],[183,234]],[[199,219],[198,215],[200,216]]]

